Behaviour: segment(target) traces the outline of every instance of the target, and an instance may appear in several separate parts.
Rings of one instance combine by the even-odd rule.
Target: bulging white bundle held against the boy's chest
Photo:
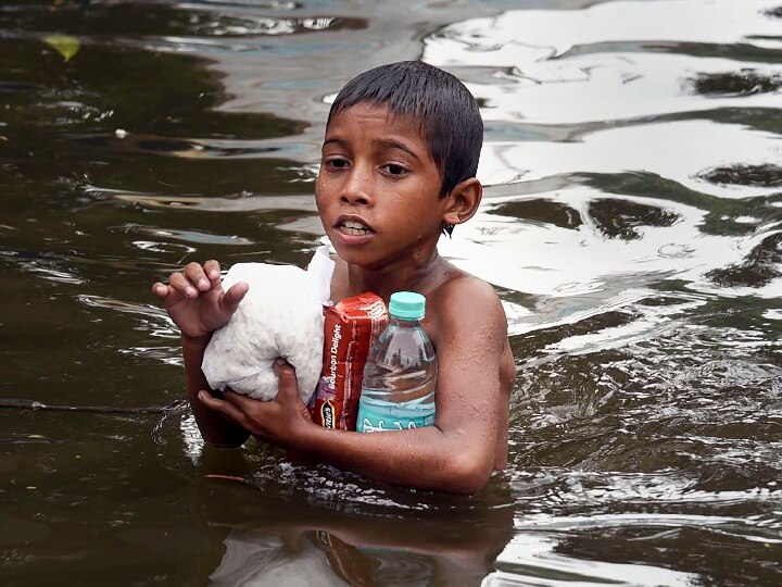
[[[274,360],[286,359],[297,372],[304,403],[315,391],[323,367],[323,304],[330,294],[333,261],[320,247],[307,271],[291,265],[238,263],[223,288],[250,285],[228,324],[212,335],[201,369],[212,389],[230,387],[260,400],[277,396]]]

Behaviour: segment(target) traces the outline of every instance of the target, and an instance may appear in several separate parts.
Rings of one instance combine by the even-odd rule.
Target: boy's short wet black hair
[[[421,61],[400,61],[368,70],[348,82],[331,104],[328,121],[361,102],[382,104],[420,124],[429,153],[442,175],[440,197],[475,177],[483,143],[483,121],[475,98],[459,79]],[[445,224],[446,234],[453,232]]]

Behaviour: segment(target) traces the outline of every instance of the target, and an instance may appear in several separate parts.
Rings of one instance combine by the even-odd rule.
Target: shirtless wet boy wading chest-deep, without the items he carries
[[[424,326],[439,362],[434,426],[362,434],[314,424],[295,373],[278,360],[279,392],[261,402],[207,391],[201,360],[212,332],[248,290],[223,291],[219,265],[190,263],[152,286],[181,329],[188,397],[204,440],[236,447],[250,435],[395,485],[471,494],[507,461],[515,363],[492,287],[438,255],[441,230],[469,220],[483,124],[452,76],[420,62],[376,67],[337,96],[326,125],[315,198],[337,251],[335,302],[373,291],[427,299]]]

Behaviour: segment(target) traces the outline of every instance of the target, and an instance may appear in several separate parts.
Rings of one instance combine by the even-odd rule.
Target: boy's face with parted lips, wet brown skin
[[[442,176],[409,117],[384,105],[358,103],[331,118],[315,197],[338,254],[381,268],[430,255],[449,198]]]

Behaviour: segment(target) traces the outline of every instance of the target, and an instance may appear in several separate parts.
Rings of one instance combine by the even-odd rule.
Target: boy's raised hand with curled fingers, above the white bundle
[[[207,335],[224,326],[236,312],[249,286],[238,283],[223,291],[219,276],[217,261],[206,261],[203,266],[190,263],[185,271],[172,273],[168,285],[159,282],[152,286],[152,292],[163,300],[182,335]]]

